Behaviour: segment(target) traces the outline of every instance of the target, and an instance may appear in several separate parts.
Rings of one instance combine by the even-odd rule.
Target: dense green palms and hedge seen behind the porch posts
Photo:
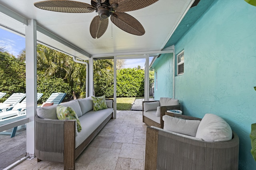
[[[10,55],[0,47],[0,91],[10,94],[26,91],[26,51],[18,57]],[[144,96],[144,70],[123,68],[124,60],[117,60],[117,96]],[[85,61],[88,62],[88,61]],[[94,61],[94,94],[110,98],[114,94],[114,61],[100,59]],[[154,83],[154,73],[150,72],[150,86]],[[37,91],[44,95],[44,102],[53,92],[65,92],[66,99],[86,96],[86,64],[76,63],[72,57],[37,45]],[[4,101],[6,98],[3,98]],[[1,101],[2,101],[1,100]]]

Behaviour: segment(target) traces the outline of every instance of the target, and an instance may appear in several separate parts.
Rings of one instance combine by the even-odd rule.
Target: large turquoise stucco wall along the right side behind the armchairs
[[[184,114],[225,119],[240,139],[239,169],[256,169],[249,137],[256,123],[256,7],[216,0],[175,44],[177,53],[182,49],[184,75],[175,77],[175,98]]]

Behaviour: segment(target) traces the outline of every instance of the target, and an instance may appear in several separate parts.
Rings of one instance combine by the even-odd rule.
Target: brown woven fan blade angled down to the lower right
[[[111,16],[111,21],[120,29],[133,34],[133,35],[144,35],[145,29],[141,23],[136,20],[133,16],[124,12],[114,12]]]

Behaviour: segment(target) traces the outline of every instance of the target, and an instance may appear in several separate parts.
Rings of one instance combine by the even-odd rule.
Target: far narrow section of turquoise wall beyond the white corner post
[[[173,75],[173,54],[162,54],[159,63],[154,67],[154,72],[157,71],[158,88],[154,87],[154,100],[159,100],[160,97],[172,98],[172,75]],[[156,78],[156,76],[155,76]],[[155,81],[156,82],[156,81]]]

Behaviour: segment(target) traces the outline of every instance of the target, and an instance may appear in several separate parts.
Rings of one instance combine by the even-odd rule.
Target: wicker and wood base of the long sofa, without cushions
[[[75,160],[96,137],[100,130],[113,119],[113,113],[110,114],[94,132],[85,139],[85,141],[75,149],[75,121],[68,120],[50,120],[51,128],[45,127],[45,123],[49,120],[40,119],[38,115],[35,117],[35,135],[36,146],[35,153],[38,162],[47,160],[52,162],[63,162],[64,170],[75,169]],[[63,133],[62,133],[63,132]],[[43,134],[43,135],[42,135]],[[46,135],[47,134],[47,135]],[[53,135],[58,134],[58,135]],[[54,138],[54,140],[52,140]],[[51,148],[50,148],[51,147]]]

